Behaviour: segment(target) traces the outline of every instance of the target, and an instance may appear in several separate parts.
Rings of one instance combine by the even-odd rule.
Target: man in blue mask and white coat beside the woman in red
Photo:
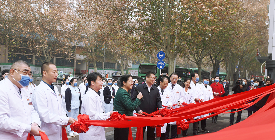
[[[209,101],[209,100],[214,99],[212,87],[210,87],[208,85],[209,81],[210,81],[210,77],[209,76],[204,76],[203,77],[203,83],[201,84],[201,90],[202,90],[202,93],[204,94],[204,101]],[[201,115],[200,118],[204,118],[204,117],[206,117],[208,115],[209,114]],[[202,123],[201,124],[202,131],[209,132],[205,128],[206,127],[206,119],[202,120],[201,123]],[[199,127],[198,127],[198,131],[199,131]]]

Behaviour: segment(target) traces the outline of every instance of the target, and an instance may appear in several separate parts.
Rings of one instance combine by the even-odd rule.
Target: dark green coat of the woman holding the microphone
[[[123,88],[119,88],[116,92],[114,101],[114,111],[126,116],[133,116],[133,111],[140,105],[141,101],[137,98],[134,102],[128,92]]]

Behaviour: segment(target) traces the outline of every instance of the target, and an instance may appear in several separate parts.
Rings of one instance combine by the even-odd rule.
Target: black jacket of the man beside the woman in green
[[[157,111],[159,108],[163,108],[159,89],[157,87],[152,85],[150,93],[145,82],[143,84],[139,84],[137,87],[139,92],[142,93],[144,99],[144,101],[141,101],[141,104],[136,109],[137,113],[140,110],[146,113],[152,113],[154,111]],[[137,96],[138,93],[136,90],[134,90],[134,93],[132,93],[133,101],[136,100]]]

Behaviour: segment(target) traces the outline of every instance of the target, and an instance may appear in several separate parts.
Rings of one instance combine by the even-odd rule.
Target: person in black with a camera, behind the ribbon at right
[[[236,85],[232,88],[232,90],[234,91],[233,94],[238,94],[238,93],[241,93],[241,92],[245,92],[247,90],[247,79],[246,78],[243,78],[242,80],[238,79],[237,82],[236,82]],[[241,110],[242,108],[239,108],[238,110]],[[233,111],[236,111],[236,109],[231,109],[231,112]],[[241,121],[241,113],[242,111],[239,111],[238,112],[238,116],[237,116],[237,120],[236,120],[236,123],[240,122]],[[234,123],[234,115],[235,113],[231,113],[230,114],[230,118],[229,118],[229,126],[230,125],[233,125]]]

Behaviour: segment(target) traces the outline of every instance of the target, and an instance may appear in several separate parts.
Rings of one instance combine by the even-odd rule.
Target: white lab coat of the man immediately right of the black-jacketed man
[[[163,90],[163,94],[161,94],[161,88],[159,86],[158,86],[158,89],[159,89],[159,94],[160,94],[160,98],[161,98],[161,101],[162,101],[162,105],[168,106],[168,104],[172,104],[172,98],[171,98],[170,90],[168,90],[167,87],[166,87],[166,89]],[[167,123],[163,124],[163,127],[161,127],[161,133],[166,132],[166,126],[167,126]],[[156,129],[155,129],[155,133],[156,133]]]

